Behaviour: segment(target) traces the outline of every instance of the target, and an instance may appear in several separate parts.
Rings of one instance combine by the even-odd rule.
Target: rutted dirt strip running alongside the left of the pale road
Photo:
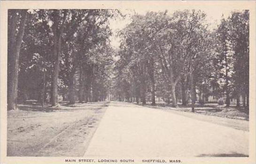
[[[69,156],[85,152],[107,102],[53,112],[8,111],[8,156]]]

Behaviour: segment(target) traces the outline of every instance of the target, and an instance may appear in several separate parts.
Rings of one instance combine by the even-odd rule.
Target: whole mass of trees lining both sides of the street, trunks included
[[[134,14],[118,31],[112,9],[8,10],[8,110],[36,99],[204,104],[249,97],[249,11],[210,29],[201,10]]]

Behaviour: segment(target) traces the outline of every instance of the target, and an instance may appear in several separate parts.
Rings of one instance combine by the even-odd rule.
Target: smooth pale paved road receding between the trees
[[[203,156],[248,156],[248,131],[111,102],[85,152],[85,157]]]

